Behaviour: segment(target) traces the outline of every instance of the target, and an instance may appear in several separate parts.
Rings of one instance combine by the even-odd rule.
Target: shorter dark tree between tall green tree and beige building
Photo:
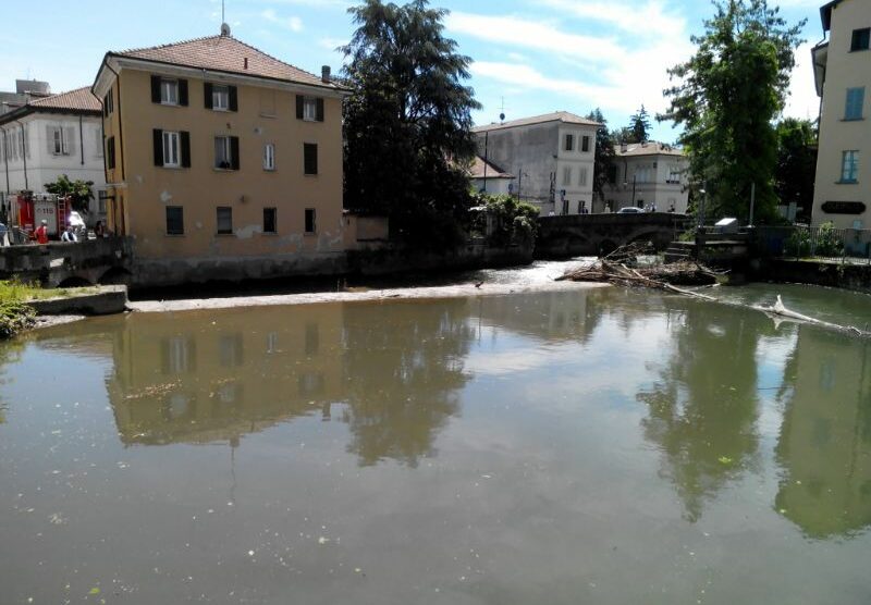
[[[817,172],[817,133],[810,120],[787,118],[777,124],[774,190],[781,203],[796,202],[801,220],[810,219]]]

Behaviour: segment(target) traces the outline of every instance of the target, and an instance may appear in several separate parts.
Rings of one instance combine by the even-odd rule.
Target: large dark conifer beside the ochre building
[[[345,206],[390,217],[407,243],[447,247],[470,206],[464,170],[476,152],[470,59],[443,36],[442,9],[365,0],[348,9],[358,25],[342,48]]]

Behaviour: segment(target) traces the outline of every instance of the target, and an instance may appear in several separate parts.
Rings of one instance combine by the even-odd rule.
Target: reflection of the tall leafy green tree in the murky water
[[[762,313],[674,300],[671,358],[647,405],[645,437],[661,452],[690,521],[704,503],[758,461],[757,343],[772,331]]]

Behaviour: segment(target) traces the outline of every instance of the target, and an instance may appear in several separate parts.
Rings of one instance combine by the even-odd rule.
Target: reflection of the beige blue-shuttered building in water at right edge
[[[811,538],[871,524],[871,343],[801,326],[781,393],[775,508]]]

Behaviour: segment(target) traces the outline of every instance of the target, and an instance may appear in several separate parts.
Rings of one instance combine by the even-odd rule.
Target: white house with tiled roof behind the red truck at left
[[[0,199],[15,192],[44,192],[65,174],[93,181],[93,224],[106,220],[102,106],[88,88],[39,99],[0,115]],[[0,208],[0,212],[3,209]]]

